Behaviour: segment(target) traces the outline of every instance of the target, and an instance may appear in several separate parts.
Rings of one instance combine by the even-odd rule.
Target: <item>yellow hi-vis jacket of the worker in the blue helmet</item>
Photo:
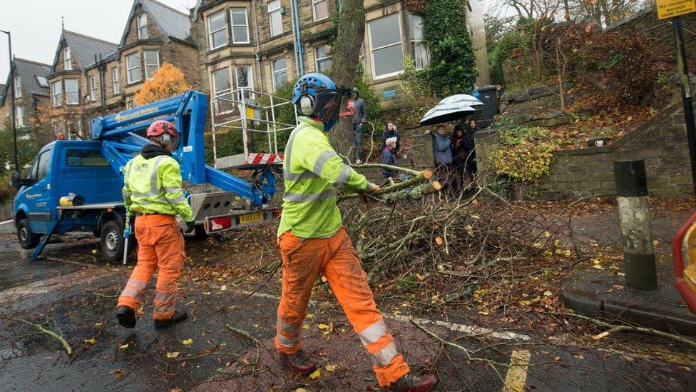
[[[301,238],[325,238],[342,225],[338,191],[367,189],[367,179],[332,149],[324,124],[307,117],[298,120],[285,147],[285,194],[277,235],[290,230]]]

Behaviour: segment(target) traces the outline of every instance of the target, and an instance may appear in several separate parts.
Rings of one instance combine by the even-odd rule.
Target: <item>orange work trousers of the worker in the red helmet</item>
[[[184,258],[184,238],[176,218],[171,215],[143,214],[135,218],[135,238],[138,240],[138,263],[131,278],[118,297],[118,306],[137,310],[145,288],[155,271],[155,320],[166,320],[174,314],[176,281],[181,275]]]

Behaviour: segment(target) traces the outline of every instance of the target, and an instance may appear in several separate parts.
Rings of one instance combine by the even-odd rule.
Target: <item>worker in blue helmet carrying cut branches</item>
[[[292,370],[315,370],[316,364],[302,351],[300,334],[314,281],[324,276],[372,356],[379,385],[389,391],[429,391],[437,382],[435,376],[409,373],[342,226],[338,191],[379,189],[345,164],[329,144],[327,131],[336,124],[344,94],[349,91],[337,89],[322,74],[302,76],[292,92],[302,116],[287,141],[283,165],[285,194],[277,233],[283,278],[275,347]]]

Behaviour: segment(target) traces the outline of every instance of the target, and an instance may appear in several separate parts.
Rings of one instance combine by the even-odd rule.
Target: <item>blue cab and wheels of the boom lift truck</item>
[[[123,180],[101,153],[101,141],[54,141],[39,151],[17,182],[15,225],[23,248],[36,248],[49,232],[86,231],[102,238],[107,259],[122,256]],[[68,195],[81,196],[81,206],[61,206]]]

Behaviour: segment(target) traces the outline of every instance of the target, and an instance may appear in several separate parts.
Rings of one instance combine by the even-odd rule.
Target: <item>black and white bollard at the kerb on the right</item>
[[[639,290],[657,288],[652,222],[648,206],[645,161],[614,162],[614,180],[623,237],[626,286]]]

